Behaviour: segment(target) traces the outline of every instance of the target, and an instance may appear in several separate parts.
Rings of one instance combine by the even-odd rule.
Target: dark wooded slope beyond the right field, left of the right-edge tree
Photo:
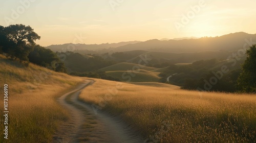
[[[231,63],[217,61],[216,59],[200,60],[187,65],[170,64],[160,73],[159,76],[162,77],[160,82],[175,84],[188,90],[235,92],[237,91],[237,79],[241,70],[230,70],[228,73],[213,70],[221,70],[223,64],[228,69],[232,69]],[[170,75],[173,76],[167,82],[166,79]]]

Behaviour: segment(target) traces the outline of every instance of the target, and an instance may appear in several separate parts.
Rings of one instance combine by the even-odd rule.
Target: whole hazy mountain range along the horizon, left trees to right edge
[[[68,48],[69,44],[62,44],[51,45],[46,48],[51,49],[54,52],[73,50],[72,52],[82,54],[103,54],[135,50],[185,53],[201,51],[237,51],[242,49],[245,44],[247,48],[252,44],[256,44],[256,34],[248,34],[244,32],[230,33],[220,37],[202,37],[199,39],[193,39],[196,37],[186,38],[187,37],[175,38],[175,40],[168,40],[166,38],[161,40],[152,39],[144,42],[129,41],[104,44],[74,44],[74,48]]]

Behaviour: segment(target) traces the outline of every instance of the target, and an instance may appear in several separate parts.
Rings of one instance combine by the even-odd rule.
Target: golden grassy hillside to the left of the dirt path
[[[9,95],[9,139],[5,142],[50,142],[57,123],[69,117],[55,99],[82,79],[34,64],[25,67],[3,55],[0,65],[0,92],[4,94],[4,84],[8,84]],[[4,96],[0,96],[0,101],[4,101]],[[0,112],[3,113],[3,107]],[[4,129],[4,124],[0,128]],[[0,133],[2,140],[3,130]]]

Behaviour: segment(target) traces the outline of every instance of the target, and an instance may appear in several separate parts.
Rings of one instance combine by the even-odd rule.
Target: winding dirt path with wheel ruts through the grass
[[[81,90],[93,83],[86,80],[57,100],[69,109],[71,118],[56,131],[53,142],[143,142],[143,137],[121,120],[102,111],[95,114],[90,104],[78,100]]]

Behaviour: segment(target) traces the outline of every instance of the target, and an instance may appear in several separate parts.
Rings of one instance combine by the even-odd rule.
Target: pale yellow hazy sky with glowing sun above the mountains
[[[0,25],[30,25],[43,46],[255,34],[255,6],[256,0],[1,0]]]

